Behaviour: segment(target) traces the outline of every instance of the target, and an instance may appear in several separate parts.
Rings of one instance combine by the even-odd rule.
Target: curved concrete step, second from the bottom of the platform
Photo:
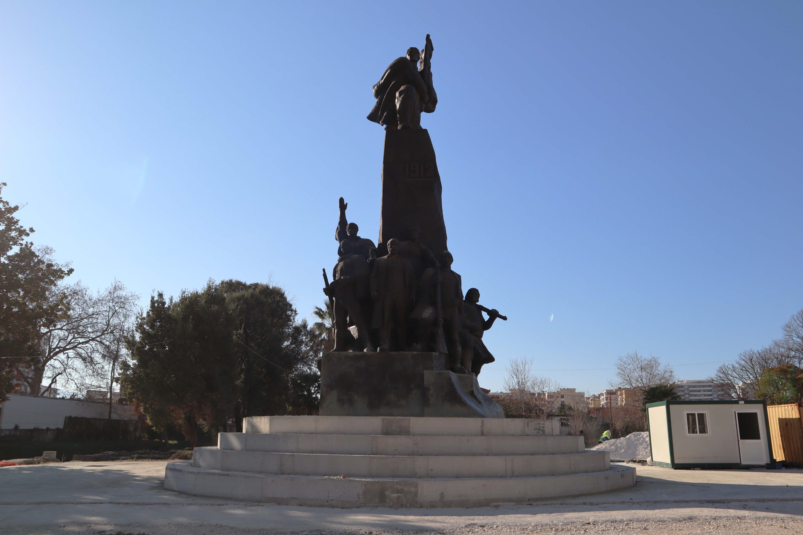
[[[297,476],[500,478],[600,472],[608,452],[510,456],[375,456],[195,448],[195,468]]]

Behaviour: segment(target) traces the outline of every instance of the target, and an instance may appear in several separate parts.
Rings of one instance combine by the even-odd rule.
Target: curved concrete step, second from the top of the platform
[[[220,433],[218,448],[349,455],[544,455],[585,451],[582,436],[399,436]]]

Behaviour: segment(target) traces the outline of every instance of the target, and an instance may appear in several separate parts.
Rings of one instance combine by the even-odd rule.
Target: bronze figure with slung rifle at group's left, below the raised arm
[[[332,284],[324,288],[324,294],[335,299],[335,348],[346,351],[349,319],[357,327],[357,337],[364,351],[374,351],[370,342],[368,322],[362,310],[362,300],[368,297],[370,267],[360,254],[353,253],[356,245],[349,240],[340,244],[342,254],[337,259]]]

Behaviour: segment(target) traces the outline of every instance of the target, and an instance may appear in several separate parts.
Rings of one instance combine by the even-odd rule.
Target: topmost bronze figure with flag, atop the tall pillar
[[[430,66],[433,50],[430,34],[426,34],[423,51],[410,47],[405,57],[390,63],[373,86],[377,103],[368,120],[381,124],[385,130],[421,128],[422,111],[432,113],[438,105]]]

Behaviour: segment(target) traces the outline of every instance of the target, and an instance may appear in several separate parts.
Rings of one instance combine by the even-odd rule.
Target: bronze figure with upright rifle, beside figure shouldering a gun
[[[435,342],[439,329],[443,329],[449,369],[455,373],[468,373],[462,364],[460,346],[460,316],[463,313],[463,288],[459,274],[451,270],[454,258],[443,251],[440,265],[428,268],[418,282],[418,300],[410,319],[415,323],[418,344],[416,351],[438,351]],[[438,315],[438,290],[441,310]],[[438,319],[441,321],[438,322]]]

